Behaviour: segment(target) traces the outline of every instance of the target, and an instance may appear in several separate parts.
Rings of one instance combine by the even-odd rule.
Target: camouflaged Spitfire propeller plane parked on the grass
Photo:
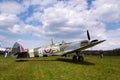
[[[62,44],[58,44],[58,45],[55,45],[52,41],[51,45],[38,47],[27,51],[25,51],[22,45],[16,42],[12,48],[11,53],[12,56],[15,58],[72,55],[73,61],[83,62],[84,57],[81,51],[105,41],[105,40],[91,40],[88,30],[87,30],[87,37],[88,40],[69,42],[69,43],[63,42]]]

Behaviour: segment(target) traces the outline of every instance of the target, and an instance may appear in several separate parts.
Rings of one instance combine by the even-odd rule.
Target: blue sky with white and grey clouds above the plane
[[[0,45],[25,48],[87,39],[96,50],[120,48],[120,0],[0,0]]]

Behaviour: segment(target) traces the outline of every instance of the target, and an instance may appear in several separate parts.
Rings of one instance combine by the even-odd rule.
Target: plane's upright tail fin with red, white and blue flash
[[[20,45],[19,43],[15,42],[15,44],[13,45],[12,51],[11,51],[12,57],[18,58],[18,55],[24,52],[25,52],[24,47]]]

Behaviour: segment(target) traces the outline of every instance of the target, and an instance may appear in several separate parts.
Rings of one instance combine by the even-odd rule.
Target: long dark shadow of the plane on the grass
[[[27,60],[27,59],[16,60],[16,62],[28,62],[28,61],[62,61],[67,63],[80,64],[80,65],[95,65],[94,63],[88,61],[74,62],[72,59],[64,59],[64,58],[57,58],[55,60]]]

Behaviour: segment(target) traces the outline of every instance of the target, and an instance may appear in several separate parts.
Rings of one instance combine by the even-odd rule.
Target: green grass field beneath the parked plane
[[[120,80],[120,56],[86,56],[83,63],[60,56],[22,60],[0,56],[0,80]]]

